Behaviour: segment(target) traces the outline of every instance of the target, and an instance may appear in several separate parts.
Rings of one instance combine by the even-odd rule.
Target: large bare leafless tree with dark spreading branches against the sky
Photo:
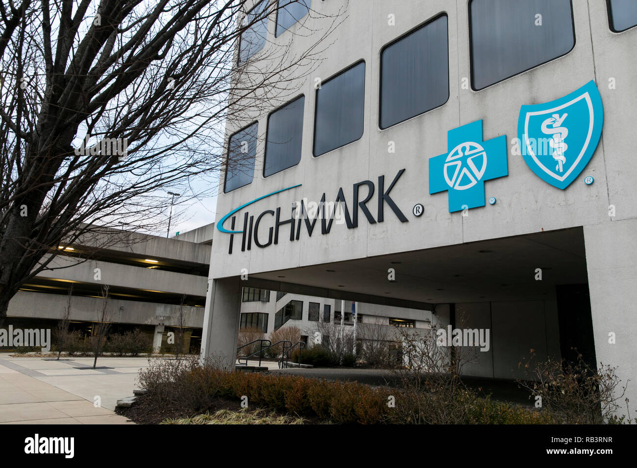
[[[248,14],[253,5],[0,3],[0,324],[59,245],[120,223],[164,231],[167,190],[192,201],[220,171],[252,167],[245,152],[222,157],[224,123],[295,93],[347,8],[311,11],[320,25],[298,29],[307,46],[292,54],[291,36],[259,37],[279,3]]]

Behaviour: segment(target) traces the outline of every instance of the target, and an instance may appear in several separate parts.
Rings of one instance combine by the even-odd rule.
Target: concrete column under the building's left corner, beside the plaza
[[[239,337],[241,278],[208,280],[201,358],[220,359],[233,368]]]

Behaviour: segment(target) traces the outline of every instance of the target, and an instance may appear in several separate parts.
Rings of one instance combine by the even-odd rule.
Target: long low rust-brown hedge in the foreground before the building
[[[372,388],[357,382],[315,380],[260,372],[230,372],[196,358],[153,360],[138,383],[161,405],[180,404],[185,414],[213,409],[215,399],[238,400],[279,413],[334,423],[551,424],[564,422],[550,408],[540,410],[492,401],[473,390],[441,391],[432,383],[406,388]],[[389,397],[393,397],[390,399]],[[388,406],[389,401],[394,405]],[[157,408],[157,406],[155,406]]]

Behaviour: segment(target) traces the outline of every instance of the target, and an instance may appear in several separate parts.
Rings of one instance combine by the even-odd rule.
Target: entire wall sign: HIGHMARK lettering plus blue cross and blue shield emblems
[[[564,190],[592,158],[599,143],[603,120],[601,96],[595,83],[590,81],[555,101],[522,106],[518,121],[519,139],[514,139],[517,140],[518,151],[513,150],[512,153],[522,155],[542,180]],[[447,150],[447,153],[429,159],[429,194],[447,192],[449,213],[485,206],[485,181],[508,176],[506,135],[483,141],[482,120],[476,120],[447,132]],[[282,188],[233,209],[221,218],[217,229],[230,234],[228,253],[231,254],[236,234],[241,234],[241,252],[251,250],[253,243],[265,248],[278,244],[282,227],[286,230],[283,238],[290,241],[299,240],[303,228],[311,237],[318,219],[321,234],[329,234],[334,222],[345,223],[348,229],[357,227],[359,212],[369,224],[382,223],[385,204],[401,222],[407,222],[403,211],[389,194],[404,171],[398,171],[387,189],[385,176],[378,177],[377,184],[371,180],[355,183],[349,206],[341,187],[334,202],[326,202],[326,194],[323,193],[318,202],[308,202],[307,199],[292,202],[291,212],[285,209],[283,215],[280,206],[261,211],[258,215],[247,210],[258,201],[301,187],[301,184]],[[592,181],[592,176],[585,178],[589,185]],[[359,193],[361,187],[367,188],[363,192],[364,197]],[[373,208],[368,202],[376,189],[378,203]],[[490,204],[495,202],[496,197],[489,198]],[[243,210],[241,229],[235,230],[236,213]],[[290,213],[289,218],[286,212]],[[412,212],[418,217],[424,213],[424,206],[416,204]],[[229,228],[225,227],[227,222],[230,223]],[[264,226],[268,229],[267,240]]]

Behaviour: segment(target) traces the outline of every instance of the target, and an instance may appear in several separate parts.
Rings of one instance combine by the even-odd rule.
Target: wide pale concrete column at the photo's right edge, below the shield
[[[584,242],[598,367],[600,362],[617,366],[615,372],[622,385],[631,380],[626,397],[634,417],[637,409],[637,219],[584,226]],[[623,407],[619,414],[626,414],[625,402],[619,403]]]

